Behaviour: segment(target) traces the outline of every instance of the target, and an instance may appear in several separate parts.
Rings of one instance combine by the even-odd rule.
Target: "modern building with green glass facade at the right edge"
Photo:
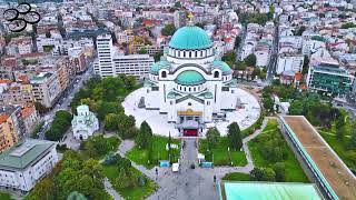
[[[342,97],[352,91],[353,81],[353,74],[339,67],[338,63],[333,62],[310,66],[307,76],[307,87],[312,91]]]

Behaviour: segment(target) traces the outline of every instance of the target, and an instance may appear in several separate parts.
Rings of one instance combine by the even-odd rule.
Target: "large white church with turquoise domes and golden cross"
[[[221,61],[199,27],[178,29],[145,83],[141,103],[167,114],[182,136],[200,136],[206,123],[235,111],[238,97],[233,70]]]

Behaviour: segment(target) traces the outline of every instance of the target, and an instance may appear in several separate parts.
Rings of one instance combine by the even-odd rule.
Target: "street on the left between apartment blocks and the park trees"
[[[89,80],[93,71],[93,64],[92,62],[87,62],[87,71],[82,74],[79,74],[75,78],[75,81],[71,86],[68,87],[68,89],[63,92],[63,94],[60,97],[60,99],[57,101],[56,106],[47,112],[44,116],[44,124],[42,128],[42,131],[39,132],[38,138],[41,140],[44,140],[44,132],[51,127],[51,123],[53,121],[55,114],[58,110],[69,110],[69,106],[71,100],[73,99],[75,94],[80,90],[80,88],[83,86],[83,83]]]

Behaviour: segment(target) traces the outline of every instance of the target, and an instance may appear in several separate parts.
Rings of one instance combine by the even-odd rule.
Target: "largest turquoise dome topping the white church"
[[[205,30],[194,26],[178,29],[169,42],[169,47],[175,49],[207,49],[211,46]]]

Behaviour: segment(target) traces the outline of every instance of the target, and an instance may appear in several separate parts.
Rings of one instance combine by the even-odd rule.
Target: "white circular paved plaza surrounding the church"
[[[145,96],[145,88],[141,88],[126,97],[122,102],[125,113],[135,117],[137,127],[144,121],[147,121],[155,134],[168,137],[170,133],[171,137],[180,137],[178,129],[176,129],[176,124],[168,122],[167,114],[159,113],[159,110],[138,108],[139,101],[141,97]],[[257,99],[249,92],[239,88],[237,88],[235,96],[240,99],[240,107],[234,111],[227,112],[226,120],[216,120],[207,123],[207,128],[216,127],[221,136],[226,136],[227,127],[233,122],[237,122],[240,129],[245,130],[258,120],[260,106]],[[202,131],[202,136],[205,136],[205,133],[206,129]]]

